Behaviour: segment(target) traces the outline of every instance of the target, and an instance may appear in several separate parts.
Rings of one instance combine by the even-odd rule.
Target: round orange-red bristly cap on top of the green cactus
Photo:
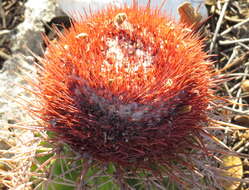
[[[213,97],[213,70],[192,29],[134,3],[58,35],[36,86],[44,128],[88,158],[191,183],[179,169],[195,174],[191,155],[212,155],[203,136]]]

